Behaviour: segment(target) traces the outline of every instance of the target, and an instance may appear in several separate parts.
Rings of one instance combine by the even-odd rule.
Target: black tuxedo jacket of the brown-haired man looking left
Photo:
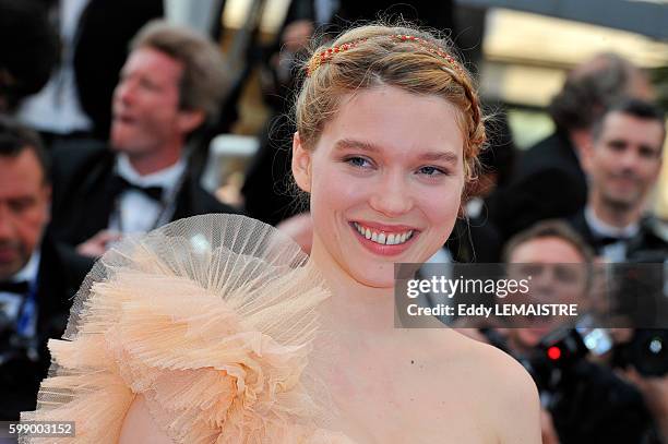
[[[115,199],[116,154],[105,145],[71,146],[53,153],[51,229],[57,240],[77,245],[109,225]],[[189,170],[176,196],[171,220],[208,213],[237,213],[206,192]]]

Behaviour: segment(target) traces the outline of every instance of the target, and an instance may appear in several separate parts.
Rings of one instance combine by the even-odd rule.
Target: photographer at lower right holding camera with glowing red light
[[[539,223],[516,235],[506,244],[504,259],[522,267],[530,264],[533,299],[553,302],[585,300],[592,286],[591,250],[569,227],[559,221]],[[641,393],[612,370],[585,359],[584,355],[545,356],[541,341],[552,335],[571,336],[572,329],[559,329],[554,320],[516,320],[509,328],[505,348],[528,368],[546,409],[544,439],[572,443],[643,443],[651,424]],[[549,337],[549,336],[548,336]],[[569,338],[571,340],[571,338]]]

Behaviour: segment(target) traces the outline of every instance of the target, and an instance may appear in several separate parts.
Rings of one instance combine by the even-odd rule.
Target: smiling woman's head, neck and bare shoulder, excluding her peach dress
[[[394,264],[442,247],[476,177],[485,129],[468,73],[445,40],[386,26],[344,33],[306,71],[293,173],[333,292],[317,348],[336,361],[319,372],[336,429],[356,442],[540,442],[535,386],[511,358],[452,331],[392,328]]]

